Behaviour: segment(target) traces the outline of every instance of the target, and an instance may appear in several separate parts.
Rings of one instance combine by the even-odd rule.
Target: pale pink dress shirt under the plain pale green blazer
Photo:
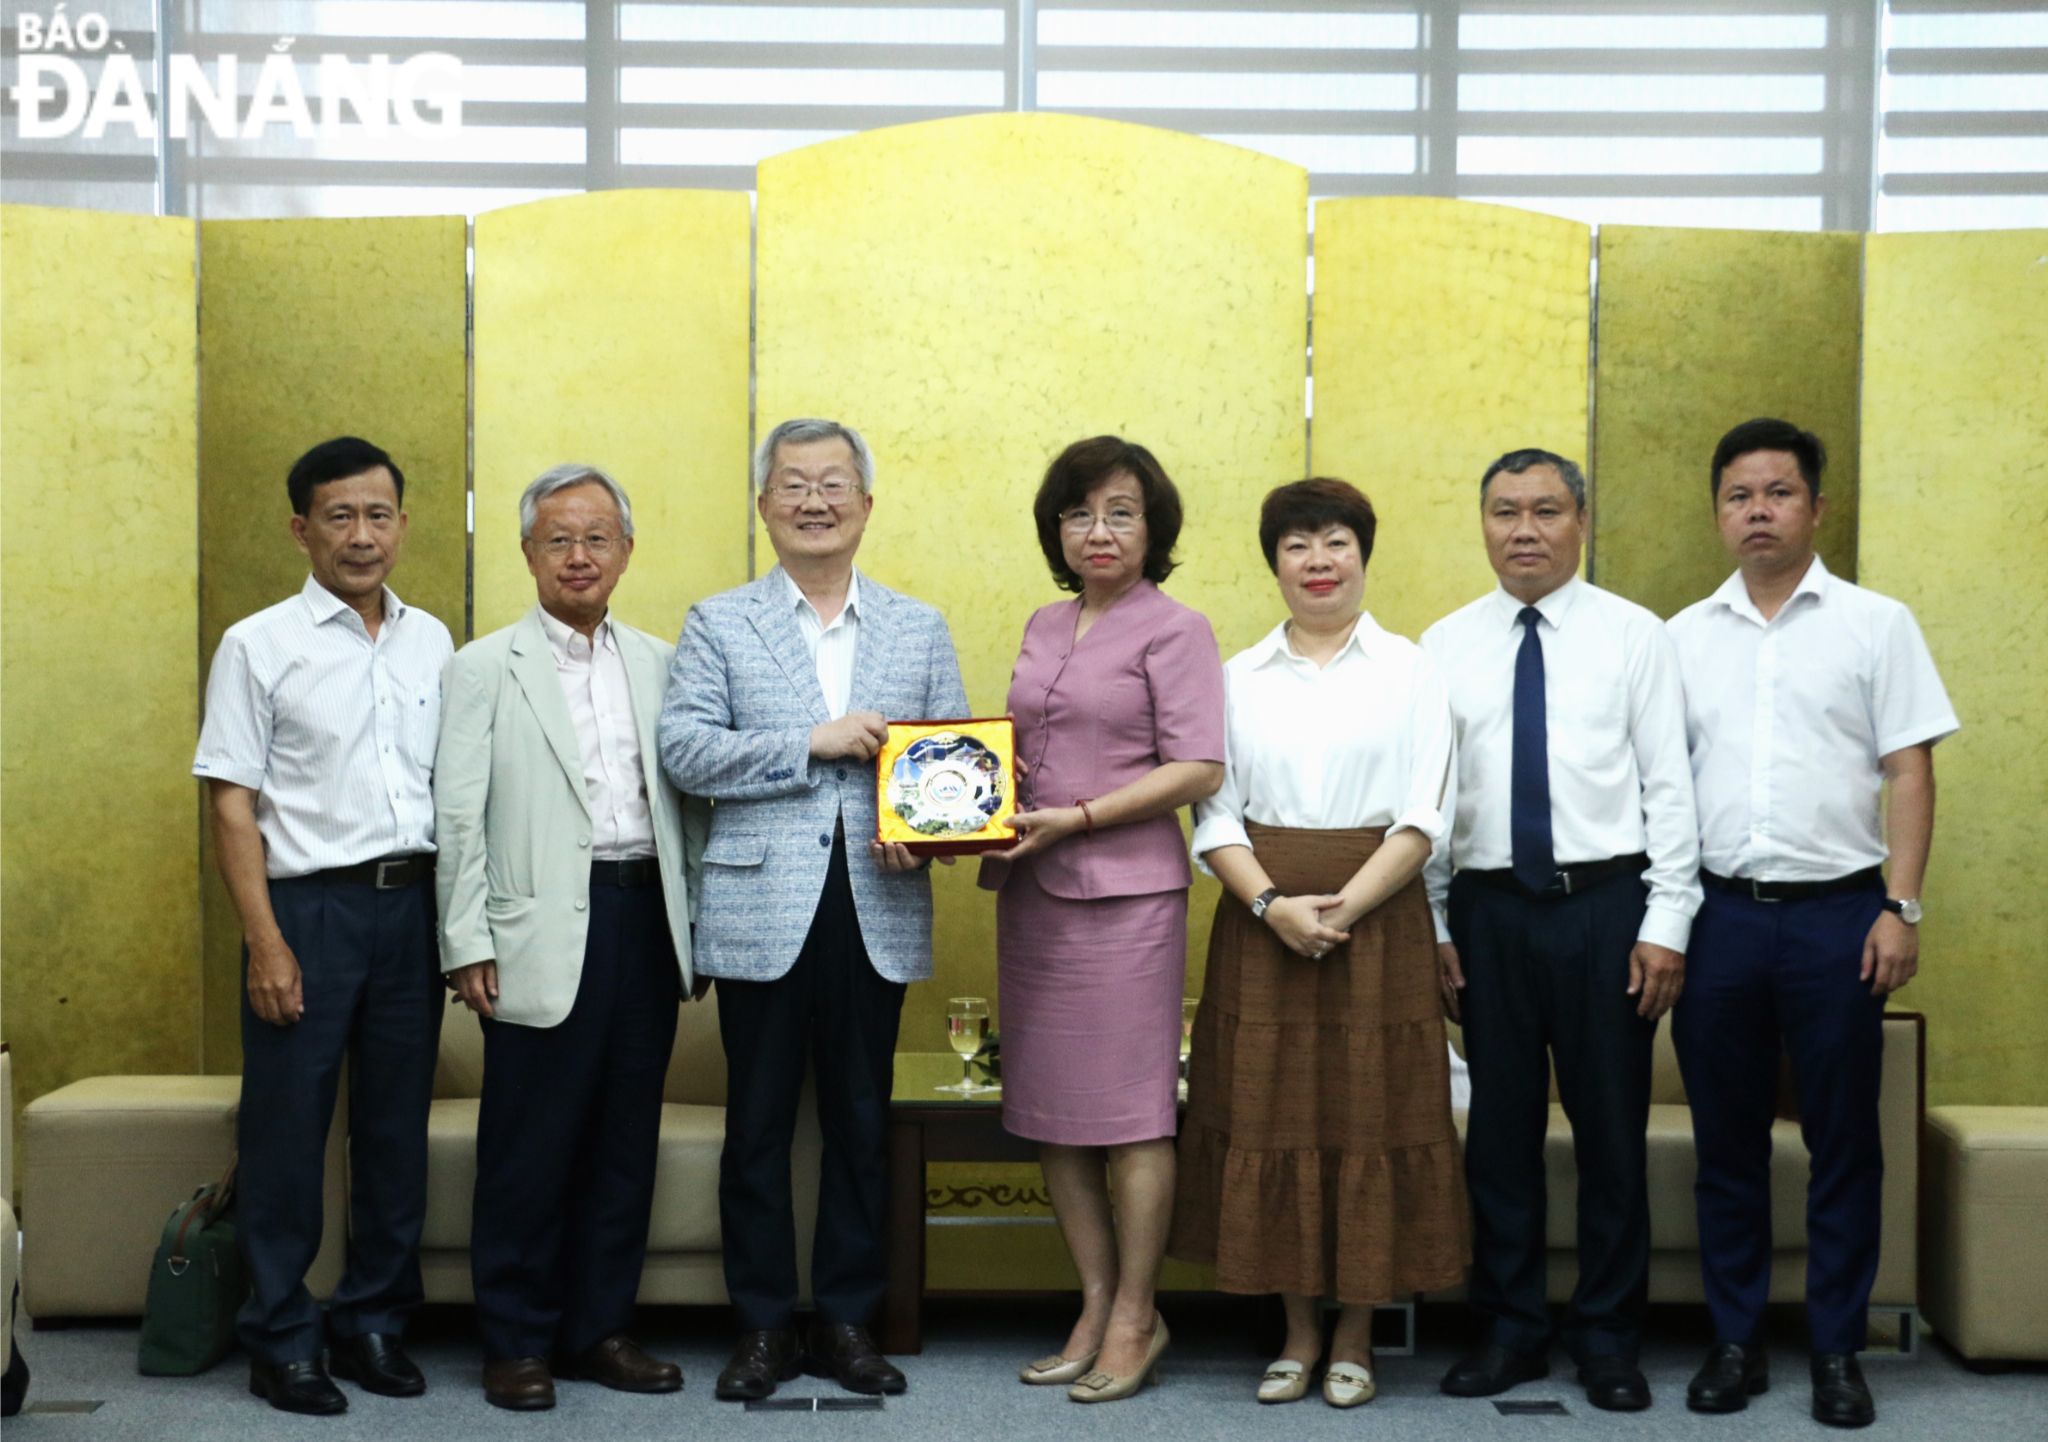
[[[647,772],[641,768],[639,725],[627,658],[618,653],[612,621],[598,623],[596,647],[575,627],[541,608],[541,629],[555,651],[561,698],[569,703],[575,741],[584,754],[584,799],[590,803],[592,860],[653,856],[653,811],[647,807]]]

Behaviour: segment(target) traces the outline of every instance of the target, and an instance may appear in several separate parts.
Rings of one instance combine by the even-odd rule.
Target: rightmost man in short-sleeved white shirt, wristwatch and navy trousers
[[[1815,555],[1825,463],[1819,436],[1786,420],[1743,422],[1714,447],[1714,516],[1739,569],[1671,619],[1706,883],[1671,1036],[1692,1102],[1714,1319],[1686,1405],[1741,1411],[1769,1385],[1784,1051],[1812,1155],[1812,1415],[1860,1428],[1876,1419],[1855,1352],[1878,1270],[1884,998],[1919,967],[1933,746],[1958,721],[1913,612]]]

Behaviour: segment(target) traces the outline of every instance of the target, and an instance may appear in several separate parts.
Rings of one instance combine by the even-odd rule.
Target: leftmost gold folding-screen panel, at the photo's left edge
[[[16,1102],[193,1071],[193,225],[0,207],[0,952]]]

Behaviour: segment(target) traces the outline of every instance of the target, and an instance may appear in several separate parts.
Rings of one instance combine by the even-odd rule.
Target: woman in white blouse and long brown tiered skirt
[[[1280,1292],[1260,1401],[1370,1401],[1372,1305],[1458,1282],[1468,1208],[1421,866],[1456,774],[1444,682],[1360,610],[1372,504],[1282,485],[1260,545],[1288,619],[1225,666],[1227,774],[1194,854],[1223,881],[1169,1249]]]

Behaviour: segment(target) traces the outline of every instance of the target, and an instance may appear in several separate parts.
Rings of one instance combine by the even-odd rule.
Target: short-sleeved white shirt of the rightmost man
[[[1741,571],[1671,617],[1700,864],[1833,881],[1884,862],[1878,758],[1960,723],[1913,612],[1812,559],[1769,621]]]

